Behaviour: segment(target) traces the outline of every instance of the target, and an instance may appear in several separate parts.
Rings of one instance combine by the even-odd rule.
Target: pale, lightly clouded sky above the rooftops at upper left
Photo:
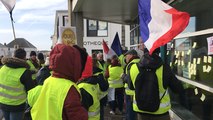
[[[13,10],[17,38],[25,38],[38,50],[50,50],[55,11],[67,10],[68,0],[16,0]],[[0,2],[0,43],[13,40],[9,12]]]

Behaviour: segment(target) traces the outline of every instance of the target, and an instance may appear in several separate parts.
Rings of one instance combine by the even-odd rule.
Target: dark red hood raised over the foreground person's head
[[[50,52],[49,68],[53,76],[77,82],[82,72],[80,52],[75,47],[57,44]]]

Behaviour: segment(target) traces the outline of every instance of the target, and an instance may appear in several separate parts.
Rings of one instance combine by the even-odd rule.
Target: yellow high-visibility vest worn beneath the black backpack
[[[139,70],[138,70],[137,65],[136,64],[132,65],[130,74],[131,74],[131,80],[133,83],[135,83],[138,73],[139,73]],[[133,97],[133,110],[134,111],[141,112],[141,113],[149,113],[149,114],[163,114],[163,113],[168,112],[168,110],[171,108],[169,94],[167,92],[167,89],[164,89],[164,87],[163,87],[163,66],[161,66],[160,68],[158,68],[156,70],[156,75],[158,78],[158,85],[159,85],[159,92],[160,92],[159,98],[161,98],[163,96],[163,94],[166,92],[160,101],[159,109],[156,112],[147,112],[147,111],[139,110],[139,108],[137,106],[137,102],[135,100],[135,95],[134,95],[134,97]],[[133,86],[135,87],[134,84],[133,84]]]

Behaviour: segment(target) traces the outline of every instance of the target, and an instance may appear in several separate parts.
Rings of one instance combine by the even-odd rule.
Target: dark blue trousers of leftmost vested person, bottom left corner
[[[5,120],[22,120],[24,116],[24,111],[21,112],[9,112],[9,111],[3,111],[3,115]]]

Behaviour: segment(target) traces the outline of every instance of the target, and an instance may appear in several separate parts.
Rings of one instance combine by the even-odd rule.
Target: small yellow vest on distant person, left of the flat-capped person
[[[123,74],[123,68],[120,66],[109,66],[109,87],[111,88],[121,88],[124,86],[123,81],[120,79],[121,74]]]

